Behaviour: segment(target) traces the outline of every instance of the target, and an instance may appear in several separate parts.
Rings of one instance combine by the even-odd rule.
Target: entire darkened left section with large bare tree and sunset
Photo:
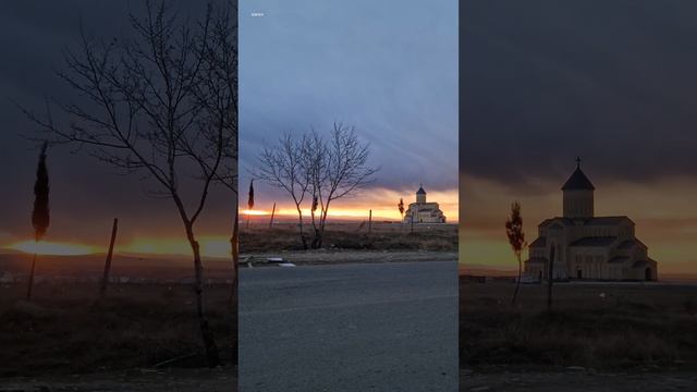
[[[0,13],[0,390],[236,390],[236,0]]]

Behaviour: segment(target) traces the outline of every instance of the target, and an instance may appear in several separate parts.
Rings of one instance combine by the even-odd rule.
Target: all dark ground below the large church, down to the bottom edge
[[[460,283],[462,391],[697,390],[697,286]]]

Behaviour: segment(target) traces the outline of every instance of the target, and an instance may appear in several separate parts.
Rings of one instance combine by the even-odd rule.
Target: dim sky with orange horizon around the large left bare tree
[[[142,13],[142,3],[136,0],[29,0],[3,4],[0,13],[0,248],[33,237],[30,215],[38,149],[24,136],[33,134],[36,127],[12,101],[37,113],[44,111],[45,98],[80,101],[56,76],[56,71],[64,69],[62,52],[78,48],[81,21],[91,37],[123,37],[129,34],[129,11]],[[180,2],[174,7],[186,14],[204,10],[196,2]],[[64,146],[52,147],[48,152],[52,217],[47,242],[82,244],[87,250],[103,250],[112,219],[118,217],[118,252],[191,252],[181,241],[184,229],[172,201],[147,195],[147,191],[154,189],[151,183],[140,181],[139,175],[119,175],[86,151],[73,152]],[[224,256],[228,252],[233,206],[231,194],[219,188],[213,191],[209,208],[199,222],[204,253]]]

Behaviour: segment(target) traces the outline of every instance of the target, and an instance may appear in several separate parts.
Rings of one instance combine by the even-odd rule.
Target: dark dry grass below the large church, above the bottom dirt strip
[[[697,286],[523,285],[461,281],[461,367],[583,366],[596,369],[697,364]],[[602,295],[601,295],[602,294]]]

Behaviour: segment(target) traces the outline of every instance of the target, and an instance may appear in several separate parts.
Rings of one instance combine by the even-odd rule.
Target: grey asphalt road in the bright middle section
[[[456,261],[243,269],[240,391],[457,391]]]

